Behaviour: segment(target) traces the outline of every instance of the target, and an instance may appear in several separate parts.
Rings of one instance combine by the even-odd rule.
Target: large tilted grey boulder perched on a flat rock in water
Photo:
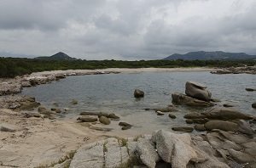
[[[207,87],[196,83],[194,81],[187,81],[186,82],[186,94],[189,97],[204,100],[209,102],[212,97],[212,93],[207,90]]]

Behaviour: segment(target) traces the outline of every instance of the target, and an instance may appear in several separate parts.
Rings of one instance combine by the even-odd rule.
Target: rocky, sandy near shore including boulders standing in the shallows
[[[55,74],[3,80],[0,97],[0,165],[3,167],[256,167],[256,116],[219,107],[207,86],[194,81],[172,93],[172,104],[154,110],[172,114],[179,106],[209,108],[183,116],[189,126],[172,126],[152,135],[127,137],[108,129],[113,120],[132,129],[115,114],[83,112],[72,120],[55,120],[68,109],[44,108],[35,98],[15,95],[22,87],[58,81],[66,76],[119,73]],[[144,92],[136,90],[135,98]],[[78,104],[77,100],[71,104]],[[253,105],[252,105],[253,107]],[[106,127],[107,126],[107,127]],[[185,132],[185,133],[184,133]],[[189,132],[197,132],[189,133]]]

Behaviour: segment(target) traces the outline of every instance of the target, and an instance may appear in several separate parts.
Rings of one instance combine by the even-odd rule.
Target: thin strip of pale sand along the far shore
[[[154,72],[154,71],[167,71],[167,72],[198,72],[198,71],[212,71],[216,69],[212,68],[138,68],[138,69],[128,69],[128,68],[109,68],[109,69],[98,69],[98,70],[51,70],[43,72],[32,73],[31,76],[44,76],[52,74],[72,74],[72,73],[94,73],[94,72],[120,72],[120,73],[139,73],[139,72]]]

